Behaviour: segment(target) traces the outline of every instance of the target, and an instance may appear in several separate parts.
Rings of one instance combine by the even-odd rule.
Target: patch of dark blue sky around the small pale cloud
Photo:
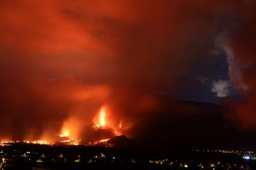
[[[224,50],[219,50],[214,55],[214,60],[196,67],[193,69],[193,72],[190,72],[190,74],[184,77],[186,83],[177,89],[176,98],[220,103],[220,98],[211,89],[213,88],[214,81],[223,80],[230,82],[228,75],[228,56]],[[228,89],[230,96],[238,97],[238,92],[233,89],[231,83]]]

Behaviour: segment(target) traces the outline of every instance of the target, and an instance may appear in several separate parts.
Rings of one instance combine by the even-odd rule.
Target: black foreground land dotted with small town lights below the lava
[[[255,152],[7,144],[0,169],[256,169]]]

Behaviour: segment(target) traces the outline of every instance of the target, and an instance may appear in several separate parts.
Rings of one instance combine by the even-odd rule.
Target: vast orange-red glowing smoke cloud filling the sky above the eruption
[[[129,129],[161,109],[152,93],[172,94],[214,60],[221,35],[233,51],[233,84],[248,86],[230,117],[255,125],[247,111],[255,107],[255,1],[1,1],[0,9],[3,139],[51,139],[70,118],[86,136],[102,105],[114,126]]]

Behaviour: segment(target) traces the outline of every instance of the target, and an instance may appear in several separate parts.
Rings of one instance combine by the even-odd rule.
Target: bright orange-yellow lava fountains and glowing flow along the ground
[[[80,139],[80,120],[78,118],[69,118],[63,123],[63,127],[60,132],[56,135],[55,140],[46,140],[46,138],[41,138],[40,140],[24,140],[24,141],[1,141],[0,146],[11,145],[13,143],[23,142],[28,144],[38,144],[38,145],[100,145],[105,147],[112,147],[109,140],[118,135],[122,135],[126,123],[124,120],[115,120],[112,118],[112,113],[109,106],[102,106],[99,111],[97,111],[95,118],[93,119],[92,130],[95,131],[95,135],[100,135],[97,141],[88,142],[86,144]]]

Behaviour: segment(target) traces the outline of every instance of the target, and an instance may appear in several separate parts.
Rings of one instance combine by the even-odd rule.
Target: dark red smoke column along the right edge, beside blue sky
[[[242,8],[246,16],[245,24],[230,40],[233,53],[230,54],[230,77],[234,86],[240,90],[240,101],[234,103],[233,117],[245,129],[256,129],[255,99],[256,99],[256,57],[255,57],[255,1]]]

